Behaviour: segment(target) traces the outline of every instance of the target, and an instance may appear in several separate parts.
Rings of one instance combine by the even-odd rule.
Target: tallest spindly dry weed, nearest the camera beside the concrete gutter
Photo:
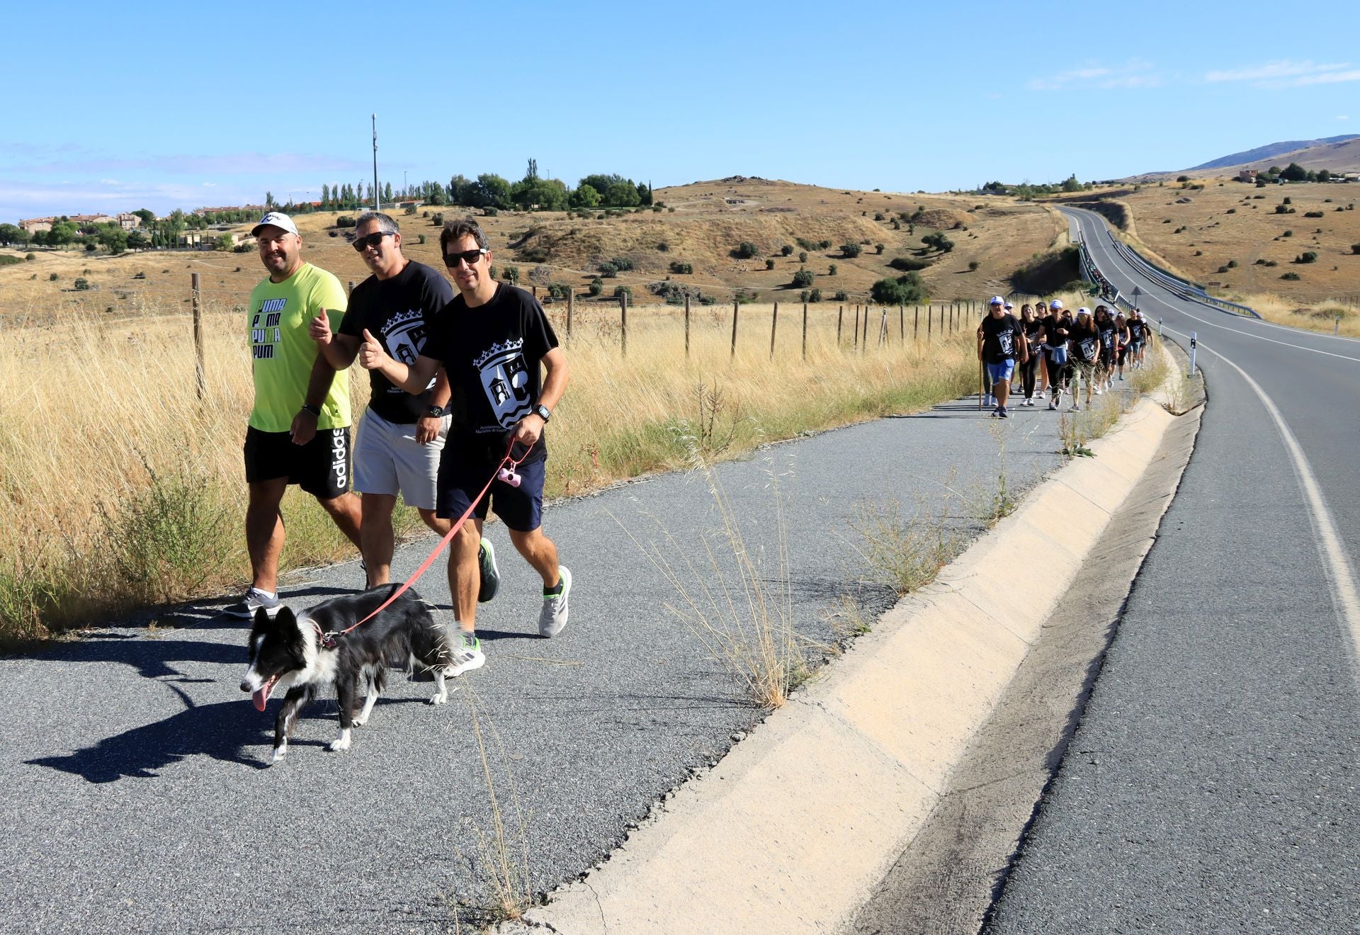
[[[777,559],[774,569],[764,569],[741,534],[736,510],[713,465],[698,451],[694,457],[721,522],[715,537],[702,537],[703,559],[698,564],[656,516],[662,544],[642,542],[617,516],[615,522],[675,588],[676,601],[668,602],[666,610],[724,665],[748,699],[762,708],[779,708],[809,677],[806,648],[815,644],[801,639],[793,627],[789,533],[778,474],[771,468]],[[670,554],[677,561],[672,563]]]

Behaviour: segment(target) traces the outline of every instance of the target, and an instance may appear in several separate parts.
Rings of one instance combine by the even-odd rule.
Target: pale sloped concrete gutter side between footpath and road
[[[1174,417],[1140,402],[827,666],[607,864],[525,917],[555,932],[826,932],[921,829]],[[1044,554],[1044,575],[1017,556]],[[511,931],[511,930],[506,930]]]

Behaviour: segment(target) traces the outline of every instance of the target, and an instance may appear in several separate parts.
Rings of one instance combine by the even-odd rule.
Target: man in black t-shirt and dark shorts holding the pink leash
[[[477,544],[488,507],[543,578],[540,636],[556,636],[567,622],[571,572],[558,564],[558,548],[541,527],[543,429],[567,387],[567,361],[539,300],[491,279],[491,250],[477,224],[449,222],[439,249],[458,295],[430,322],[424,351],[408,366],[364,332],[359,363],[408,393],[422,391],[441,366],[449,375],[453,425],[439,461],[438,515],[452,519],[472,507],[472,522],[449,549],[449,590],[461,633],[446,674],[457,675],[486,662],[475,624]],[[541,381],[540,366],[547,370]],[[518,482],[492,480],[507,448],[521,459]],[[479,497],[488,480],[487,495]]]

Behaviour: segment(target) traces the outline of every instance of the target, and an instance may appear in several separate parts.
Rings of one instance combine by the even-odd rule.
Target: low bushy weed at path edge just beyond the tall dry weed
[[[910,594],[934,580],[966,544],[966,534],[951,526],[953,495],[938,504],[917,497],[910,516],[892,500],[889,507],[858,504],[851,526],[865,540],[865,559],[899,595]]]

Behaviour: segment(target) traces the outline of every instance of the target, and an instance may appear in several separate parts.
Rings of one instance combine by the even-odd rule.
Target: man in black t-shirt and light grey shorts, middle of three
[[[389,355],[415,363],[427,340],[427,319],[453,299],[449,281],[401,253],[401,231],[388,215],[359,215],[354,247],[373,276],[350,295],[340,330],[332,333],[325,315],[318,315],[310,325],[311,340],[337,371],[354,363],[364,330],[382,341]],[[435,480],[449,432],[449,378],[441,370],[412,395],[381,372],[369,371],[369,408],[354,446],[354,489],[363,495],[360,548],[367,584],[375,587],[392,575],[397,493],[426,526],[439,535],[449,531],[449,521],[435,515]],[[481,597],[490,599],[496,587],[490,542],[483,556]]]

